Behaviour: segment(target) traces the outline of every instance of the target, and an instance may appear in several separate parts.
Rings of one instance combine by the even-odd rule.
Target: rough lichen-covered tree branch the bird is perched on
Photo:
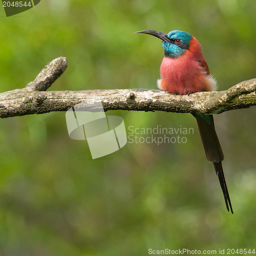
[[[75,104],[101,101],[105,111],[136,110],[178,113],[220,114],[256,105],[256,78],[238,83],[226,91],[174,95],[150,89],[88,91],[46,90],[66,70],[67,59],[52,60],[23,89],[0,93],[0,117],[67,111]]]

